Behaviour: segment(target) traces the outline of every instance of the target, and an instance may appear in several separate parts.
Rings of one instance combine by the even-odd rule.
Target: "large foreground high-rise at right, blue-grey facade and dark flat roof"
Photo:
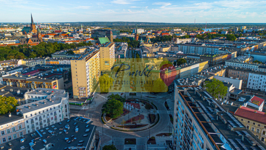
[[[178,150],[265,150],[261,140],[201,87],[175,86],[173,146]]]

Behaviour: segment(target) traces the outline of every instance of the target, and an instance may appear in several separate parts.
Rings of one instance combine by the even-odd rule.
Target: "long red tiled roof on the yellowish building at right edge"
[[[234,113],[234,115],[266,124],[266,114],[264,114],[264,112],[260,112],[254,109],[242,106],[241,108],[237,108],[237,111]]]

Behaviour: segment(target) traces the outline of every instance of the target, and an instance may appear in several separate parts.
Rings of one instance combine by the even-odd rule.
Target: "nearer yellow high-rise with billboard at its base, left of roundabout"
[[[94,92],[100,76],[100,50],[83,53],[71,61],[74,98],[87,98]]]

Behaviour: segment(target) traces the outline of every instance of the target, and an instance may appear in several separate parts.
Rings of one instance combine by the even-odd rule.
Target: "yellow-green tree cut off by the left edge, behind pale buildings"
[[[0,114],[13,112],[15,107],[18,106],[18,101],[13,97],[0,96]]]

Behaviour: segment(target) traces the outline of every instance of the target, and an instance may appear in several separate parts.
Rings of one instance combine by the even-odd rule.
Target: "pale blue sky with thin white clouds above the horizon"
[[[265,23],[266,1],[0,0],[0,22]]]

